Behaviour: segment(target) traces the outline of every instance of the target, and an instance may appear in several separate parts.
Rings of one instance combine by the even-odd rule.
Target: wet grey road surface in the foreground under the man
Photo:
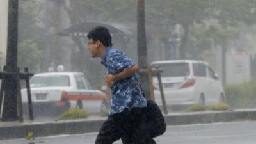
[[[1,144],[92,144],[97,133],[61,135],[36,140],[0,140]],[[255,144],[256,122],[170,126],[157,144]],[[114,144],[120,144],[116,141]]]

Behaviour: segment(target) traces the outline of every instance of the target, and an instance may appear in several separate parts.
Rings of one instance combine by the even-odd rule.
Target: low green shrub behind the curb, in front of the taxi
[[[89,113],[83,109],[69,109],[63,113],[58,120],[72,120],[72,119],[82,119],[88,118]]]

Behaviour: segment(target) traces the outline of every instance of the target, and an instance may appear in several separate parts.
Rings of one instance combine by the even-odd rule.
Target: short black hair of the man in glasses
[[[97,26],[93,28],[87,34],[87,38],[88,39],[92,38],[93,42],[96,42],[97,40],[99,40],[105,47],[112,46],[112,37],[108,29],[104,26]]]

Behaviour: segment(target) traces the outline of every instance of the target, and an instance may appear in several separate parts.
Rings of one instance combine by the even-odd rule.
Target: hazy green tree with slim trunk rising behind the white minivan
[[[223,28],[236,27],[237,23],[255,24],[256,1],[253,0],[162,0],[148,1],[148,19],[155,24],[182,27],[180,58],[186,58],[188,36],[195,24],[209,24],[217,20]],[[164,27],[166,29],[166,27]]]

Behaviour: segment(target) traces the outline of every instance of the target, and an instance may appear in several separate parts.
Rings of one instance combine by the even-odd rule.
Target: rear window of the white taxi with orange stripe
[[[70,86],[68,76],[35,76],[30,81],[31,88],[53,87],[53,86]]]

